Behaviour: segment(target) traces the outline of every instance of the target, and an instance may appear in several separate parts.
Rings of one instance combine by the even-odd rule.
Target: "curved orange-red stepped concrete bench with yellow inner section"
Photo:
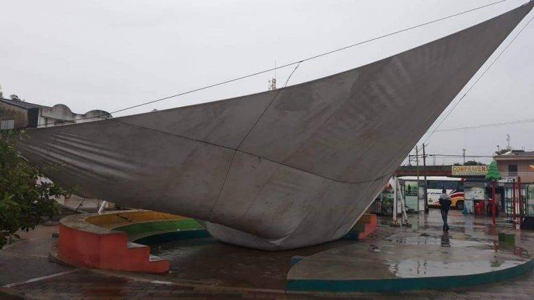
[[[198,229],[199,226],[192,219],[157,211],[71,215],[60,220],[57,250],[52,249],[49,256],[70,266],[166,273],[168,260],[151,255],[149,246],[133,240],[175,234],[182,227]]]

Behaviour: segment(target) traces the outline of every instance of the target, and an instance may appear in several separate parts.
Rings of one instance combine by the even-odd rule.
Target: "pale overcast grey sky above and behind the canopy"
[[[0,84],[4,95],[15,93],[28,102],[63,103],[76,113],[115,111],[267,69],[275,60],[283,65],[495,1],[0,0]],[[525,2],[508,0],[304,62],[289,84],[397,54]],[[534,22],[440,129],[534,118],[533,37]],[[291,71],[277,71],[278,86]],[[175,97],[115,117],[265,91],[272,76]],[[427,152],[461,154],[466,148],[467,155],[491,155],[496,145],[506,146],[507,133],[515,148],[534,150],[533,126],[436,132],[427,141]]]

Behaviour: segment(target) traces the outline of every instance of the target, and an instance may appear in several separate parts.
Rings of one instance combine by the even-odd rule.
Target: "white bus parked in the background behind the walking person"
[[[403,181],[416,181],[417,176],[399,177]],[[425,177],[419,176],[419,182],[423,182]],[[451,197],[452,207],[463,209],[464,207],[464,189],[463,183],[465,178],[447,177],[447,176],[427,176],[427,197],[428,206],[439,207],[439,195],[441,190],[446,189],[447,194]]]

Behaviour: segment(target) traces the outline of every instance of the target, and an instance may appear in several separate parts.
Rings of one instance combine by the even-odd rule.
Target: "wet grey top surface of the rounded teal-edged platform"
[[[369,284],[371,279],[477,275],[530,260],[526,249],[463,233],[401,232],[386,240],[361,241],[303,259],[291,268],[288,279],[365,280]]]

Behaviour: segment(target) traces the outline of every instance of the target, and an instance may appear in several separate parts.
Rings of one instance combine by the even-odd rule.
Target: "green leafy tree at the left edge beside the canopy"
[[[43,173],[21,157],[12,132],[0,132],[0,248],[19,230],[34,229],[43,216],[58,213],[54,196],[69,193],[54,183],[37,183]]]

